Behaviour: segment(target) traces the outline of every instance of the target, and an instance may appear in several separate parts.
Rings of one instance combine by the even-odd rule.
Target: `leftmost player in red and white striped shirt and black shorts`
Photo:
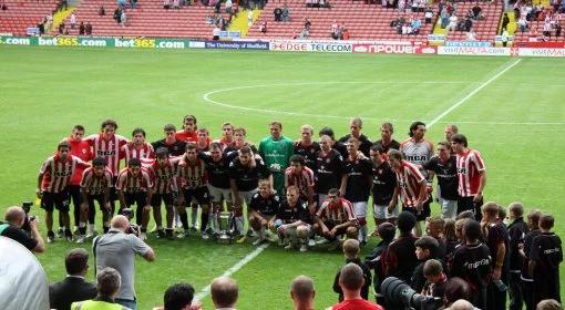
[[[61,219],[66,240],[72,239],[69,218],[69,184],[78,167],[86,168],[90,165],[70,153],[71,144],[66,141],[60,142],[56,146],[56,154],[47,158],[39,169],[37,195],[41,198],[41,208],[45,210],[48,242],[53,242],[55,237],[53,207],[62,214]]]

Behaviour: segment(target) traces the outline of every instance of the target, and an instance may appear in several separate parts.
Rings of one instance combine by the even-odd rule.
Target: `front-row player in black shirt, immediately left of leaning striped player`
[[[394,195],[397,187],[397,174],[390,167],[387,161],[387,152],[380,144],[371,146],[371,161],[372,161],[372,203],[374,224],[379,227],[380,224],[389,221],[394,224],[399,214],[399,208],[394,208],[389,213],[390,200]],[[373,236],[377,236],[377,228]]]

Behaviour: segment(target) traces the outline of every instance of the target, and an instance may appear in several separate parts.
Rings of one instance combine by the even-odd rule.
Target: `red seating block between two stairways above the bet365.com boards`
[[[105,9],[103,17],[99,16],[101,6]],[[206,22],[206,18],[214,14],[214,8],[202,6],[199,1],[193,6],[168,10],[163,8],[162,0],[138,1],[135,10],[126,9],[126,27],[120,25],[113,19],[116,7],[114,0],[84,0],[75,10],[78,23],[90,21],[93,35],[212,38],[213,28]],[[222,12],[224,18],[229,18],[224,9]],[[69,18],[65,23],[69,24]],[[70,31],[70,34],[79,34],[79,29]]]

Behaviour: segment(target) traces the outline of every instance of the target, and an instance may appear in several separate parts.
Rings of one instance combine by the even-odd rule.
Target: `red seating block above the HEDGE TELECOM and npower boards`
[[[275,22],[273,11],[281,7],[282,2],[269,1],[261,12],[258,21],[265,19],[268,22],[267,33],[259,31],[259,22],[249,29],[248,38],[284,38],[292,39],[304,25],[304,19],[308,18],[312,23],[309,39],[330,38],[331,24],[336,20],[339,24],[345,23],[350,33],[350,39],[384,39],[384,40],[425,40],[432,31],[433,22],[423,23],[423,12],[400,13],[394,9],[381,8],[379,4],[364,4],[363,1],[330,0],[330,8],[306,8],[304,1],[287,2],[290,10],[290,22]],[[411,14],[422,20],[422,28],[418,35],[400,35],[390,22],[398,17]],[[435,18],[434,18],[435,20]]]

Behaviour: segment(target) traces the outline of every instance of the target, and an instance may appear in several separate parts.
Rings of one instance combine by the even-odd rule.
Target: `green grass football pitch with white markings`
[[[412,121],[423,121],[435,143],[445,124],[458,124],[485,161],[485,200],[520,200],[526,211],[552,213],[556,232],[565,236],[564,72],[557,59],[0,45],[0,214],[34,199],[42,161],[75,124],[92,134],[110,117],[117,133],[131,137],[141,126],[152,142],[162,138],[164,124],[178,127],[194,114],[213,137],[230,121],[258,143],[273,120],[296,140],[302,124],[315,132],[331,126],[339,137],[351,116],[361,116],[372,141],[386,121],[398,141]],[[432,211],[439,213],[436,204]],[[43,218],[38,206],[32,214]],[[205,309],[213,309],[206,287],[224,272],[239,283],[238,309],[291,309],[288,286],[302,273],[315,280],[316,309],[337,301],[331,285],[343,258],[326,247],[300,254],[270,245],[260,251],[250,242],[227,246],[197,236],[151,236],[148,242],[156,261],[136,261],[138,309],[162,304],[166,287],[179,281],[192,283]],[[64,252],[73,247],[58,241],[38,255],[51,282],[64,277]]]

